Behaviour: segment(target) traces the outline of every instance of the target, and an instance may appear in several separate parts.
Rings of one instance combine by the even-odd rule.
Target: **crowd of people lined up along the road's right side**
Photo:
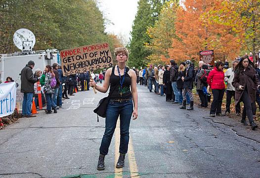
[[[135,68],[133,68],[135,70]],[[167,102],[180,104],[179,109],[193,110],[194,97],[192,89],[200,98],[199,107],[208,108],[208,102],[213,100],[210,107],[210,117],[229,115],[231,98],[235,100],[235,114],[242,115],[241,123],[248,125],[246,117],[253,130],[258,125],[255,123],[257,106],[260,107],[260,69],[248,56],[236,58],[229,67],[226,60],[215,62],[215,67],[199,61],[198,66],[190,60],[185,60],[177,65],[175,60],[170,60],[170,65],[152,64],[149,68],[135,70],[137,83],[146,86],[150,92],[166,96]],[[211,90],[211,93],[210,93]],[[226,93],[225,112],[222,114],[221,105]],[[240,103],[244,103],[241,114]],[[186,108],[186,105],[189,107]]]

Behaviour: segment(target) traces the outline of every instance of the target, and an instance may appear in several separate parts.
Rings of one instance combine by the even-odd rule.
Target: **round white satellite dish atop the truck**
[[[29,55],[35,45],[35,35],[31,30],[19,29],[13,34],[13,42],[23,54]]]

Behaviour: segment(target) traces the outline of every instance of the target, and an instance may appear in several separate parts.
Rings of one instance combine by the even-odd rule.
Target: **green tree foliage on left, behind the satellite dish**
[[[58,50],[105,42],[113,51],[115,37],[104,32],[104,19],[95,0],[2,0],[0,2],[0,53],[18,51],[16,30],[36,36],[34,50]]]

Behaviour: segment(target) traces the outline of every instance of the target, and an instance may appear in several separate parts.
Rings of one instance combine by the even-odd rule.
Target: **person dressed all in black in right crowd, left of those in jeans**
[[[172,92],[173,92],[172,82],[170,80],[170,76],[171,76],[170,69],[171,69],[170,66],[166,65],[164,75],[163,75],[163,86],[166,88],[165,90],[166,101],[168,102],[172,100]]]

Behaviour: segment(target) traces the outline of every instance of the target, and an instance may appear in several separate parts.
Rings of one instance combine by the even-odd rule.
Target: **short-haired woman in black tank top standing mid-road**
[[[113,137],[117,119],[120,116],[120,156],[116,168],[122,168],[125,164],[125,155],[128,151],[130,119],[137,119],[137,90],[136,74],[126,66],[129,52],[126,48],[116,48],[115,56],[117,65],[109,68],[105,74],[103,86],[98,86],[94,81],[89,85],[98,91],[105,93],[109,86],[109,104],[106,112],[105,133],[99,148],[99,160],[97,170],[104,170],[104,158],[108,153],[108,148]],[[133,103],[132,103],[133,101]],[[134,110],[133,110],[134,106]]]

